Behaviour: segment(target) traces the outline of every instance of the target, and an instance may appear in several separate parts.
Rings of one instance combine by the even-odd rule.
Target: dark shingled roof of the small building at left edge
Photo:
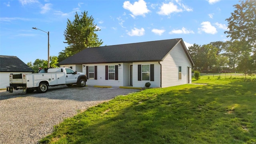
[[[17,56],[0,55],[0,72],[34,72],[34,70]]]

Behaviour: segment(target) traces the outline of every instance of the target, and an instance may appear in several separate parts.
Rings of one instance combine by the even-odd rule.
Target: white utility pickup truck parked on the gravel
[[[44,93],[48,86],[77,84],[79,87],[86,85],[86,74],[75,72],[71,68],[47,68],[38,70],[35,74],[10,74],[10,86],[8,92],[13,90],[23,90],[23,93],[33,92],[34,90]]]

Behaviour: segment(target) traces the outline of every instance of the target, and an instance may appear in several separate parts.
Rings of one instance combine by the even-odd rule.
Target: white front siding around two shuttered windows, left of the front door
[[[121,64],[118,67],[118,80],[105,80],[105,66],[115,66]],[[86,74],[86,66],[97,66],[97,80],[88,79],[86,85],[88,86],[124,86],[123,81],[123,64],[111,63],[111,64],[83,64],[82,72]]]

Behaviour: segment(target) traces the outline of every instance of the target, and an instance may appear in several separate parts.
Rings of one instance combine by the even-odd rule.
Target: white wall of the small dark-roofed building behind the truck
[[[9,74],[31,74],[32,72],[0,72],[0,89],[10,86]]]

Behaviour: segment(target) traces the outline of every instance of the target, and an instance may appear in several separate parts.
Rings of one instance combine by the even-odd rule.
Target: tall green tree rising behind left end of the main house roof
[[[64,31],[66,40],[64,43],[67,43],[68,46],[59,53],[58,58],[63,60],[85,48],[102,45],[102,40],[99,40],[98,35],[95,33],[97,31],[100,31],[100,29],[94,24],[94,18],[88,16],[88,12],[82,12],[80,16],[76,12],[73,21],[68,19],[67,28]]]

